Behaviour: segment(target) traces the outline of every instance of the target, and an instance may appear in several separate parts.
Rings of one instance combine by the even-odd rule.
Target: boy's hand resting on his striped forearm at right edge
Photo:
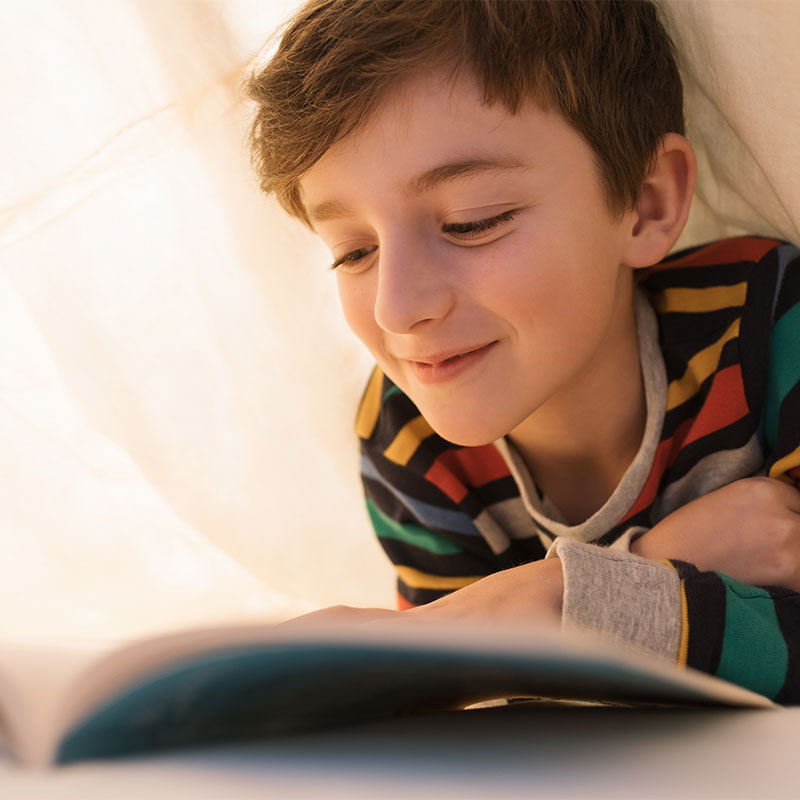
[[[735,481],[665,517],[631,552],[800,591],[800,491],[772,478]]]

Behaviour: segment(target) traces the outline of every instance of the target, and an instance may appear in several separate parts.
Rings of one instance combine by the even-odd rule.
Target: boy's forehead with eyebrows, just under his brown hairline
[[[576,147],[587,149],[559,115],[535,102],[512,114],[484,103],[471,75],[433,72],[395,87],[334,144],[301,179],[301,198],[312,222],[320,221],[366,191],[420,195],[456,178],[541,168],[556,151]]]

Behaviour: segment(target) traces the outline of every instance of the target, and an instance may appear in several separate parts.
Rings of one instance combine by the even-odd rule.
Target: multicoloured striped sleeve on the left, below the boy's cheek
[[[377,369],[356,429],[367,513],[397,572],[398,607],[429,603],[493,572],[472,518],[417,468],[435,434]]]

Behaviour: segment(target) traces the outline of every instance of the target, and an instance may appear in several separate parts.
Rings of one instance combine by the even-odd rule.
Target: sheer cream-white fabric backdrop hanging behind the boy
[[[294,5],[0,3],[4,638],[392,602],[351,434],[369,359],[247,162],[243,70]],[[668,7],[681,243],[800,239],[800,4]]]

